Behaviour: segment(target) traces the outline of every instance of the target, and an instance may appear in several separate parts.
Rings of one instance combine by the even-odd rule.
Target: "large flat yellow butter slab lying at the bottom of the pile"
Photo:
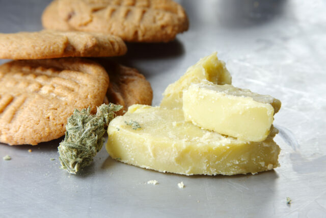
[[[126,125],[131,119],[141,128]],[[182,109],[133,105],[111,121],[107,133],[112,158],[160,172],[255,174],[278,166],[277,129],[262,142],[246,142],[186,122]]]

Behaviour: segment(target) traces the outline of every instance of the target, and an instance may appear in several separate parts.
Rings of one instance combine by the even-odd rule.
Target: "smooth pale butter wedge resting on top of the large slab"
[[[232,85],[193,84],[183,92],[185,120],[244,141],[263,141],[281,102]]]

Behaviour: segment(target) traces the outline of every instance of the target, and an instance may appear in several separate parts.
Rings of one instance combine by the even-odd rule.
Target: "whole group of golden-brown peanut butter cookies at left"
[[[84,57],[121,56],[124,41],[166,42],[188,28],[171,0],[55,0],[42,22],[47,30],[0,34],[0,58],[14,59],[0,66],[2,143],[59,138],[74,109],[151,105],[151,86],[136,69]]]

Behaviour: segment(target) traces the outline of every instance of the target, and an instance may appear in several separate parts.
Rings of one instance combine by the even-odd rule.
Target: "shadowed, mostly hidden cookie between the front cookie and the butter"
[[[106,97],[107,101],[123,106],[127,110],[133,104],[151,105],[153,90],[146,78],[137,69],[112,62],[100,62],[110,77]]]

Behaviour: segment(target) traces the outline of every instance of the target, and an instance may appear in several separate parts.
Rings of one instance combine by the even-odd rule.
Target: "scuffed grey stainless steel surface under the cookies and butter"
[[[0,32],[40,30],[48,2],[0,0]],[[169,83],[218,51],[234,85],[282,101],[275,116],[281,166],[257,175],[187,177],[116,162],[102,149],[74,176],[59,168],[60,140],[1,144],[0,157],[12,157],[0,159],[1,217],[326,217],[325,1],[179,2],[188,32],[168,44],[129,44],[128,55],[116,60],[143,72],[158,105]]]

